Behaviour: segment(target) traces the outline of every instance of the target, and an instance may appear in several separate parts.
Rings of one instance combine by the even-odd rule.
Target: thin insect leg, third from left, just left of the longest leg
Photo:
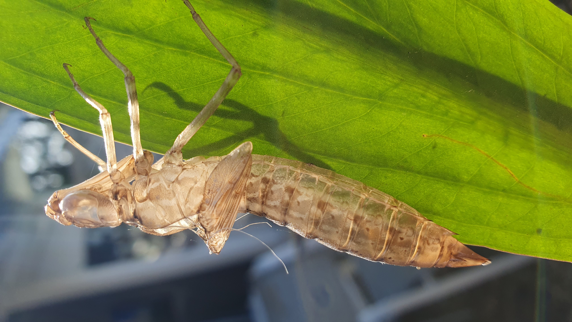
[[[104,52],[105,56],[113,62],[117,68],[125,75],[125,90],[127,91],[127,100],[129,107],[129,119],[131,120],[131,140],[133,142],[133,158],[139,161],[143,157],[143,147],[141,146],[140,126],[139,126],[139,101],[137,100],[137,88],[135,87],[135,77],[127,66],[122,64],[112,53],[105,48],[104,43],[100,37],[97,37],[96,32],[93,31],[92,24],[90,23],[92,17],[85,17],[85,25],[88,26],[89,31],[93,37],[96,38],[96,44]],[[95,20],[95,19],[93,19]]]

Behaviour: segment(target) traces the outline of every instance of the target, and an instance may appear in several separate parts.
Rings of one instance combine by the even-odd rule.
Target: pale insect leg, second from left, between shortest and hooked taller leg
[[[70,72],[67,66],[71,66],[70,64],[63,63],[63,68],[66,70],[67,75],[70,77],[73,83],[73,87],[76,89],[78,93],[80,93],[81,97],[84,97],[84,100],[92,105],[97,111],[100,112],[100,124],[101,124],[101,131],[104,135],[104,143],[105,143],[105,154],[107,155],[107,170],[110,175],[113,175],[114,172],[117,172],[117,156],[115,155],[115,142],[113,140],[113,127],[111,124],[111,115],[109,114],[108,110],[105,109],[104,105],[101,105],[96,100],[94,100],[91,96],[86,94],[80,87],[80,84],[77,83],[76,78],[73,77],[73,74]]]

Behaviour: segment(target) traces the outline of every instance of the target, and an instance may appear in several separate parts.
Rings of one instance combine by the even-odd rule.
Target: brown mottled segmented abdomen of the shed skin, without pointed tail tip
[[[444,244],[453,233],[405,203],[312,164],[265,155],[252,158],[245,194],[250,213],[367,260],[447,265],[450,250]]]

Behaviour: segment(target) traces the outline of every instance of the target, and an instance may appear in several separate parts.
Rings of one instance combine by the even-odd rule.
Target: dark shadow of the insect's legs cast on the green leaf
[[[185,101],[181,95],[179,95],[173,88],[169,87],[169,85],[162,83],[162,82],[154,82],[148,87],[145,88],[145,91],[149,88],[155,88],[159,91],[164,92],[168,95],[171,99],[173,99],[174,103],[180,109],[186,109],[187,111],[194,111],[200,112],[204,105],[193,103],[190,101]],[[226,139],[206,144],[205,146],[194,148],[193,150],[187,150],[186,152],[192,155],[205,155],[210,151],[216,150],[217,148],[223,146],[230,146],[231,144],[235,144],[245,138],[253,138],[260,134],[264,135],[264,139],[266,139],[269,143],[271,143],[276,148],[286,152],[287,154],[293,156],[294,158],[301,160],[303,162],[312,163],[315,166],[325,168],[331,170],[328,164],[324,163],[320,159],[316,159],[314,156],[309,155],[302,151],[300,147],[296,146],[296,144],[290,142],[286,135],[282,131],[280,131],[278,121],[273,119],[272,117],[268,117],[265,115],[256,112],[254,109],[244,105],[238,101],[225,99],[221,105],[230,107],[235,109],[235,111],[225,111],[224,109],[218,109],[215,114],[216,116],[222,117],[223,119],[229,120],[240,120],[240,121],[249,121],[253,123],[253,127],[249,128],[245,131],[236,133],[232,136],[229,136]]]

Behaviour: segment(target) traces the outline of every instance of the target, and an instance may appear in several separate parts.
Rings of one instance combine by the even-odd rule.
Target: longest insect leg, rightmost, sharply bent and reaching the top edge
[[[185,146],[187,142],[189,142],[190,138],[198,131],[199,128],[203,124],[205,124],[206,120],[215,113],[216,109],[219,107],[220,103],[223,102],[225,97],[227,97],[228,93],[231,91],[232,87],[235,86],[236,82],[239,81],[241,76],[240,66],[236,62],[235,58],[232,57],[231,53],[228,52],[226,48],[224,48],[223,44],[220,43],[219,40],[213,35],[212,32],[206,27],[205,23],[202,21],[201,17],[194,11],[193,6],[189,3],[188,0],[183,0],[185,5],[190,9],[190,13],[193,14],[193,19],[201,28],[202,32],[205,34],[206,38],[209,38],[210,43],[215,46],[219,53],[223,55],[223,57],[232,65],[231,72],[228,73],[227,78],[224,80],[223,85],[219,88],[219,90],[215,93],[215,96],[210,99],[209,103],[205,105],[200,113],[198,113],[197,117],[187,125],[187,127],[177,136],[173,147],[167,152],[168,154],[177,154],[181,152],[182,147]]]

